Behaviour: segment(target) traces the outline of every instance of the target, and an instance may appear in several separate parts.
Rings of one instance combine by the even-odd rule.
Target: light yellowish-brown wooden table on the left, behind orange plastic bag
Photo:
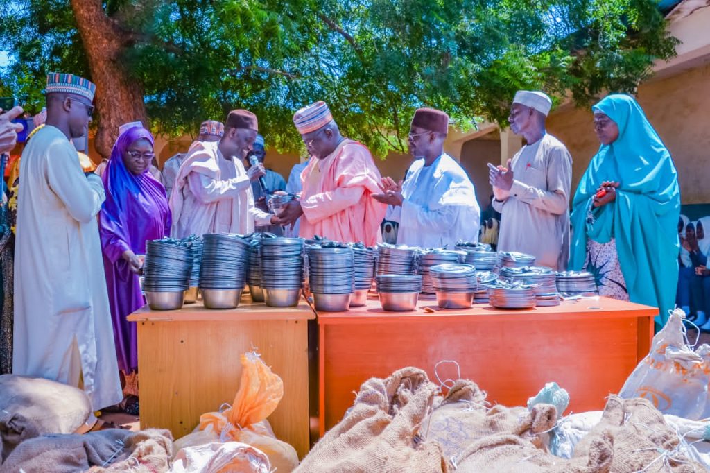
[[[138,322],[141,428],[166,428],[177,439],[200,415],[231,404],[241,379],[240,356],[256,350],[283,379],[283,399],[268,418],[280,440],[304,457],[309,449],[307,321],[305,303],[268,308],[249,296],[232,310],[202,303],[181,310],[129,316]]]

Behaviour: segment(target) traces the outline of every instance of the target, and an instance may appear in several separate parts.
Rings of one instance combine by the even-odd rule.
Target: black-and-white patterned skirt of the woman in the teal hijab
[[[597,243],[586,242],[586,261],[584,269],[594,274],[599,295],[618,300],[629,300],[626,281],[621,272],[621,265],[616,254],[616,240]]]

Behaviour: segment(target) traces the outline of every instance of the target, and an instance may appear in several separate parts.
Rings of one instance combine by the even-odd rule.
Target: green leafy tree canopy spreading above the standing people
[[[246,108],[268,144],[295,151],[293,112],[322,99],[378,156],[405,149],[417,107],[464,130],[506,125],[517,89],[579,105],[633,93],[677,44],[654,0],[0,0],[0,84],[37,112],[46,72],[94,79],[84,38],[104,37],[116,51],[93,61],[141,91],[154,131],[194,134]],[[97,112],[99,130],[118,113],[110,99]]]

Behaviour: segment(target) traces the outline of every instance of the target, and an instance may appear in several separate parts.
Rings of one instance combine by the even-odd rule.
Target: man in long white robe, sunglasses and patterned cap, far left
[[[104,186],[70,141],[87,131],[95,86],[70,74],[47,82],[45,127],[21,159],[13,374],[82,384],[98,411],[123,398],[96,219]]]

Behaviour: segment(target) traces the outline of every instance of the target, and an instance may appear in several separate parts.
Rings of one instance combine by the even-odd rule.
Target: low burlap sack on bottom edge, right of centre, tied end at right
[[[457,473],[609,473],[611,439],[602,435],[590,444],[589,457],[564,460],[538,449],[518,435],[490,435],[466,449]]]

